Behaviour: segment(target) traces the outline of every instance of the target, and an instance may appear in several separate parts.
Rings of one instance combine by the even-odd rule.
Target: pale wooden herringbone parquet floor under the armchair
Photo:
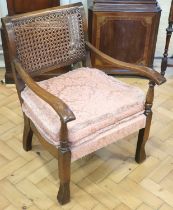
[[[156,87],[147,160],[141,165],[134,161],[136,133],[76,161],[71,202],[63,207],[56,200],[57,161],[36,139],[33,151],[22,149],[16,90],[1,84],[0,210],[173,210],[173,76],[167,79]],[[144,79],[127,81],[147,87]]]

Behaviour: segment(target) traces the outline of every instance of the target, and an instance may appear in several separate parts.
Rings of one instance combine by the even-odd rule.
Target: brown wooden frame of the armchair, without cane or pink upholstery
[[[137,163],[142,163],[146,159],[145,153],[145,144],[149,137],[150,125],[152,120],[152,105],[154,99],[154,86],[155,84],[161,85],[166,80],[161,76],[157,71],[150,69],[144,66],[138,66],[135,64],[125,63],[119,60],[116,60],[103,52],[96,49],[91,43],[88,42],[87,35],[87,21],[84,15],[84,9],[81,3],[71,4],[68,6],[60,6],[55,8],[49,8],[46,10],[40,10],[31,13],[25,13],[22,15],[17,15],[13,17],[5,17],[2,19],[2,24],[5,29],[5,34],[8,39],[8,47],[10,49],[10,59],[13,69],[13,75],[16,83],[16,88],[20,103],[22,104],[21,91],[28,86],[36,95],[41,99],[47,102],[59,115],[61,120],[60,128],[60,146],[55,148],[53,145],[49,144],[39,133],[33,122],[23,113],[24,115],[24,131],[23,131],[23,148],[25,151],[30,151],[32,149],[32,136],[33,133],[37,136],[40,143],[56,158],[58,158],[58,168],[59,168],[59,179],[60,187],[57,195],[57,199],[60,204],[66,204],[70,201],[70,166],[71,166],[71,150],[68,141],[68,122],[75,120],[75,116],[70,108],[58,97],[55,97],[51,93],[47,92],[41,88],[32,78],[32,75],[29,75],[25,69],[22,67],[20,61],[17,58],[16,48],[15,48],[15,38],[13,28],[11,27],[12,20],[18,17],[23,16],[32,16],[32,15],[41,15],[42,13],[49,12],[51,10],[63,9],[63,8],[72,8],[78,7],[81,9],[83,16],[84,24],[84,33],[85,33],[85,45],[86,45],[86,58],[84,60],[79,60],[82,62],[83,66],[91,67],[90,53],[94,53],[98,58],[102,59],[104,62],[118,67],[119,69],[126,69],[134,72],[139,77],[145,77],[149,79],[149,88],[146,96],[145,103],[145,112],[146,115],[146,126],[143,129],[139,130],[138,142],[136,147],[135,160]],[[50,71],[53,68],[57,69],[61,66],[53,66],[47,68],[46,71]],[[106,70],[105,70],[106,72]],[[109,71],[110,72],[110,71]],[[127,76],[128,73],[124,71],[112,71],[112,74],[124,75]]]

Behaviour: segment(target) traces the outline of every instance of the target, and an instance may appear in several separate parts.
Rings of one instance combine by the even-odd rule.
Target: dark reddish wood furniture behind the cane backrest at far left
[[[53,6],[59,6],[59,0],[7,0],[8,15],[21,14],[34,10],[45,9]],[[9,49],[5,38],[4,30],[1,28],[2,47],[5,60],[5,82],[13,83],[12,68],[9,58]],[[54,74],[54,72],[52,72]],[[45,76],[46,77],[46,76]]]

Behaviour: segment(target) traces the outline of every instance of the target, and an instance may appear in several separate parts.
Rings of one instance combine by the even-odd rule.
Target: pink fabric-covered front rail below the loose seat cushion
[[[116,123],[112,129],[101,133],[96,138],[93,138],[92,141],[86,141],[78,146],[72,146],[72,161],[84,157],[138,131],[145,127],[145,123],[146,116],[144,114],[137,114],[133,117],[122,120],[122,122]]]

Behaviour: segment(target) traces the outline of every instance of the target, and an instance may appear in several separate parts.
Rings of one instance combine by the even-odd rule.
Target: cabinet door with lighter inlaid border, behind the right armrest
[[[92,43],[104,53],[121,61],[152,66],[159,14],[94,12]],[[96,67],[109,64],[92,57]]]

